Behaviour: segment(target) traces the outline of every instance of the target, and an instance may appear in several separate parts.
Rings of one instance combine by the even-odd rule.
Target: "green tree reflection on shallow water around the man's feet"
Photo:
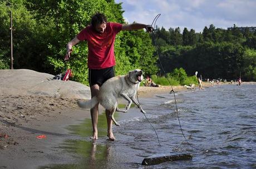
[[[100,138],[106,137],[106,126],[105,114],[99,115],[98,127]],[[102,142],[90,140],[92,134],[91,119],[85,119],[80,125],[69,126],[68,130],[70,130],[72,134],[80,135],[85,138],[80,140],[66,140],[65,143],[60,146],[60,148],[63,148],[67,152],[78,155],[78,162],[76,164],[49,165],[40,168],[104,168],[102,166],[105,166],[105,163],[109,161],[110,142],[107,140],[101,140]]]

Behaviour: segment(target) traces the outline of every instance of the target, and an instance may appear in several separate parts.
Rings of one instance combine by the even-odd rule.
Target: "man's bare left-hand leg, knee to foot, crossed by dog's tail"
[[[96,96],[99,93],[100,86],[95,84],[91,86],[91,97]],[[96,104],[91,109],[91,119],[92,119],[92,139],[98,139],[98,115],[99,115],[99,104]]]

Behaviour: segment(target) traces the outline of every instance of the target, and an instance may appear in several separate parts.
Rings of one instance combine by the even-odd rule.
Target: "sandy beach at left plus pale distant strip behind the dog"
[[[4,78],[0,77],[1,80]],[[23,78],[23,81],[26,80]],[[38,91],[29,94],[18,92],[26,88],[16,88],[17,91],[13,92],[14,87],[7,84],[1,83],[0,94],[0,168],[36,168],[48,163],[62,163],[63,159],[65,163],[72,163],[74,155],[74,158],[70,158],[69,153],[53,147],[67,138],[77,137],[69,134],[66,126],[90,118],[90,112],[76,104],[81,97],[49,96],[38,94]],[[173,89],[188,90],[184,86],[173,86]],[[171,86],[142,86],[139,88],[139,98],[150,98],[154,94],[170,93],[171,90]],[[88,93],[86,96],[90,97]]]

